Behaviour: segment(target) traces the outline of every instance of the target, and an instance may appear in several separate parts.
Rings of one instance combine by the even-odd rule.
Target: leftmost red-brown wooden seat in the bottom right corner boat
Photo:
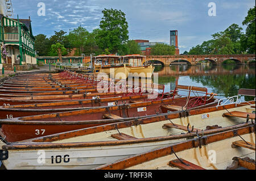
[[[179,159],[175,159],[175,160],[169,162],[168,165],[171,166],[171,167],[177,167],[177,168],[179,168],[181,170],[206,170],[203,167],[200,167],[198,165],[195,165],[195,164],[193,164],[191,162],[186,161],[185,159],[181,159],[180,158],[180,160],[183,163],[180,162]]]

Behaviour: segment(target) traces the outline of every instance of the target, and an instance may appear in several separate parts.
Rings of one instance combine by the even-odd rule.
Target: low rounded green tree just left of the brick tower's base
[[[170,55],[175,54],[175,47],[167,44],[157,43],[151,47],[152,55]]]

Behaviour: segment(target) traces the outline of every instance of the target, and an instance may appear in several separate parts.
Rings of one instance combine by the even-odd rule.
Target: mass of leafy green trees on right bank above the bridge
[[[214,33],[213,39],[192,47],[188,54],[255,54],[255,6],[242,24],[247,26],[246,33],[238,24],[232,24],[225,31]]]

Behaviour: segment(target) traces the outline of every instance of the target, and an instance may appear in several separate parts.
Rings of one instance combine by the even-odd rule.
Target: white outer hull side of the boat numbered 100
[[[159,148],[159,146],[167,146],[173,142],[175,141],[84,148],[9,150],[9,158],[2,162],[7,170],[89,170],[126,158],[129,155],[150,151]],[[22,154],[22,158],[20,154]],[[45,155],[45,159],[42,159],[40,155]]]

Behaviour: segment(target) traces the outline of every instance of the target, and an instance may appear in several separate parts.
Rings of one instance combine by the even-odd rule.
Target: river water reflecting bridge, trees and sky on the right
[[[241,88],[255,89],[255,64],[253,65],[172,65],[156,66],[158,82],[166,85],[165,91],[179,85],[207,87],[217,98],[237,95]],[[253,99],[253,98],[249,98]]]

